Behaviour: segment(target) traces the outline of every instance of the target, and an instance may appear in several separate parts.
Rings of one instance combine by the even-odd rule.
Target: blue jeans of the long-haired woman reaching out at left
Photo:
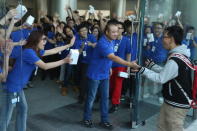
[[[10,93],[3,89],[0,90],[0,96],[2,98],[0,101],[0,131],[7,130],[15,107],[17,109],[16,131],[26,131],[27,102],[23,90],[18,93]],[[13,102],[18,97],[19,102]]]

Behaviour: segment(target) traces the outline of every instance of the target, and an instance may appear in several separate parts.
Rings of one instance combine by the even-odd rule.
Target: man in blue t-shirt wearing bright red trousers
[[[115,40],[114,54],[120,58],[130,61],[131,60],[131,42],[126,36],[123,36],[124,24],[119,22],[118,26],[118,38]],[[120,72],[126,72],[127,67],[116,62],[112,64],[112,75],[110,77],[110,98],[112,107],[109,113],[113,113],[118,109],[120,104],[120,96],[122,90],[123,77],[119,76]]]

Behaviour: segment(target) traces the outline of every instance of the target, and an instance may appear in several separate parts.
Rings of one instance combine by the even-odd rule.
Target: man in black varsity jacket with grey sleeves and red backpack
[[[147,61],[147,68],[141,67],[139,73],[146,78],[163,84],[164,103],[160,110],[158,131],[183,131],[183,123],[192,92],[192,69],[190,51],[181,45],[183,30],[179,26],[165,29],[163,46],[169,50],[164,67]]]

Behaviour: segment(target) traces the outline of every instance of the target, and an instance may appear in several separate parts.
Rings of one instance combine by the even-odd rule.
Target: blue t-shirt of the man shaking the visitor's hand
[[[114,53],[114,41],[108,40],[103,35],[93,50],[87,70],[87,77],[93,80],[109,79],[112,61],[107,56],[112,53]]]

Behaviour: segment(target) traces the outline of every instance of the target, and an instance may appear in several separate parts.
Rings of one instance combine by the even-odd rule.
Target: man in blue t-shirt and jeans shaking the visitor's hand
[[[107,23],[105,35],[98,41],[93,50],[91,61],[87,69],[88,77],[88,93],[84,109],[84,125],[92,127],[92,107],[97,93],[101,98],[101,123],[100,125],[106,129],[113,129],[108,119],[108,102],[109,102],[109,77],[112,61],[133,68],[138,71],[139,66],[135,62],[128,62],[114,55],[114,40],[117,39],[118,27],[117,21],[111,20]]]

